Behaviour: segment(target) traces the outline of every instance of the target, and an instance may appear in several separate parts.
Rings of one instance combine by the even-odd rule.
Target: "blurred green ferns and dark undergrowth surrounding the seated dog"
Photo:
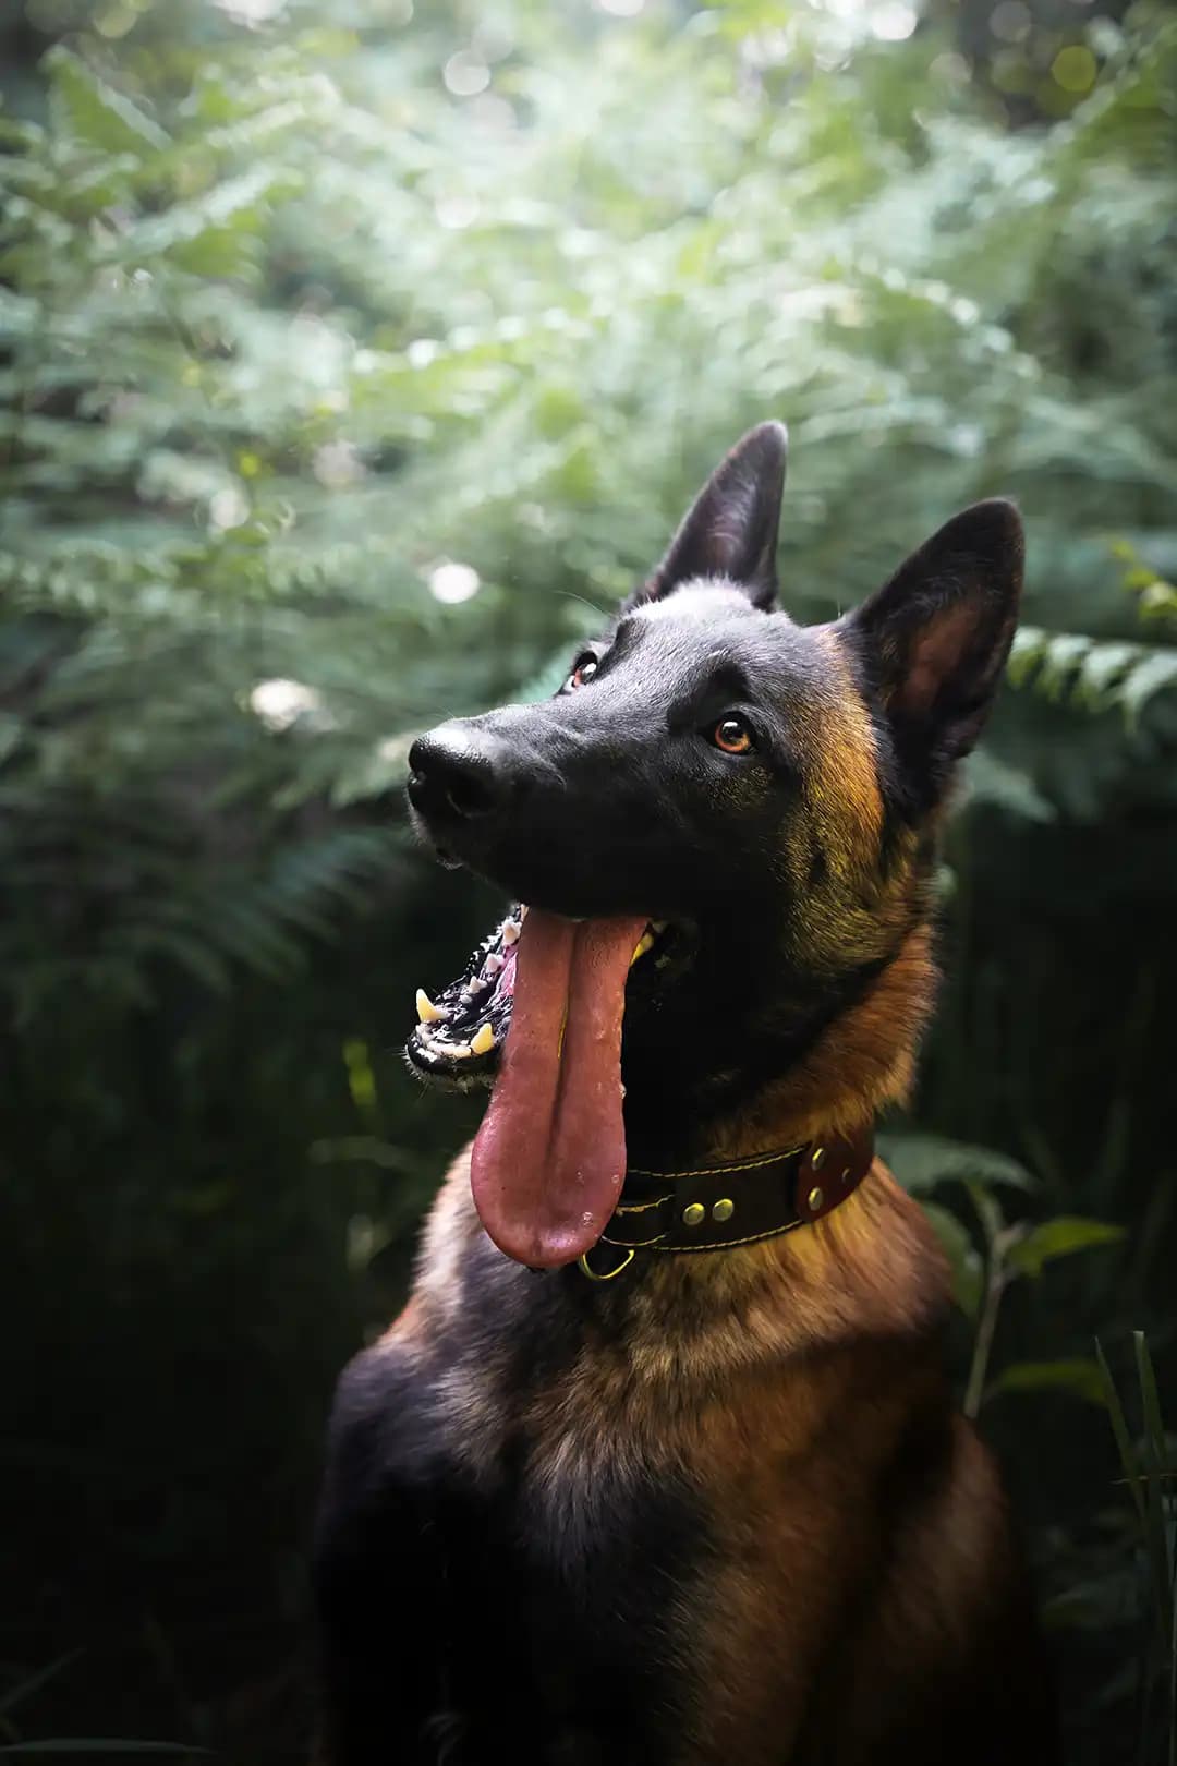
[[[0,62],[0,1738],[304,1757],[330,1381],[476,1114],[399,1063],[496,906],[408,742],[780,415],[798,618],[1027,519],[889,1151],[1068,1757],[1168,1759],[1170,11],[26,0]]]

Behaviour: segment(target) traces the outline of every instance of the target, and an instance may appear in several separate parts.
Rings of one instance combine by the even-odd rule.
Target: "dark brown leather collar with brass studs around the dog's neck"
[[[854,1136],[822,1136],[695,1171],[632,1166],[605,1231],[579,1268],[609,1282],[639,1250],[729,1250],[812,1226],[858,1189],[873,1157],[866,1125]]]

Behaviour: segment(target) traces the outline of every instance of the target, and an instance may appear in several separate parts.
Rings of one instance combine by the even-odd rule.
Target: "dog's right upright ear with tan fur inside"
[[[838,622],[861,657],[900,761],[932,793],[988,717],[1018,620],[1022,556],[1013,503],[974,503]]]

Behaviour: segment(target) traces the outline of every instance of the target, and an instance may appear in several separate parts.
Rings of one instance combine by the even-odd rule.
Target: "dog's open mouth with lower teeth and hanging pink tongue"
[[[517,908],[459,980],[436,1000],[416,996],[409,1065],[462,1090],[494,1079],[471,1183],[482,1224],[519,1263],[575,1261],[618,1203],[626,989],[641,964],[644,982],[671,961],[672,940],[665,922],[635,915]]]

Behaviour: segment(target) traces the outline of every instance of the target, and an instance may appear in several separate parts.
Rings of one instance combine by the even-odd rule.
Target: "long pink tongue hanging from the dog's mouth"
[[[503,1065],[469,1178],[487,1233],[531,1268],[600,1238],[625,1180],[621,1014],[646,920],[528,911]]]

